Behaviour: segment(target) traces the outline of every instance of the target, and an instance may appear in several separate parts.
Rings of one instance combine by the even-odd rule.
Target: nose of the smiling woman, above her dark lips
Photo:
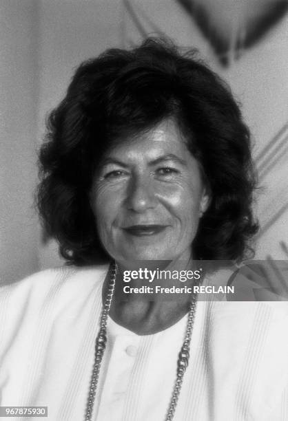
[[[127,207],[134,212],[143,213],[154,208],[157,203],[153,180],[150,177],[134,177],[127,191]]]

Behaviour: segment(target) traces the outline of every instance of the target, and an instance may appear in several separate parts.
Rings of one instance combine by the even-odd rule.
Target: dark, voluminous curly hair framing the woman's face
[[[229,88],[196,52],[147,39],[82,63],[50,114],[39,153],[37,205],[61,255],[76,265],[107,261],[89,193],[103,153],[123,136],[174,118],[212,193],[194,239],[194,257],[240,260],[258,225],[249,130]],[[251,253],[250,253],[251,254]]]

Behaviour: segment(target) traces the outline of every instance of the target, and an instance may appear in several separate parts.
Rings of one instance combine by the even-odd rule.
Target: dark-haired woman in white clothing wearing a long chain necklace
[[[249,148],[232,94],[193,52],[148,39],[76,70],[38,190],[70,264],[1,290],[2,406],[52,421],[287,420],[283,307],[116,299],[136,262],[251,252]]]

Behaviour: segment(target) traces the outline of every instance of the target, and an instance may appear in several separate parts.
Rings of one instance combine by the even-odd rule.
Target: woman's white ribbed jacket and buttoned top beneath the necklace
[[[106,273],[57,268],[1,288],[2,406],[83,420]],[[287,303],[199,301],[174,421],[287,421],[287,314]],[[165,420],[186,323],[138,336],[109,318],[94,420]]]

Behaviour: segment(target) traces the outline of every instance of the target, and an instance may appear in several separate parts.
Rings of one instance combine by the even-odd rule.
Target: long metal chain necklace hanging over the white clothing
[[[99,373],[100,373],[102,358],[103,358],[103,354],[104,354],[106,342],[107,342],[107,334],[106,334],[107,333],[107,319],[108,319],[108,314],[109,314],[111,303],[112,303],[112,297],[114,294],[116,275],[117,275],[117,267],[116,267],[116,263],[113,263],[110,270],[110,281],[107,286],[107,294],[105,297],[105,303],[102,307],[102,312],[101,312],[100,330],[96,337],[94,365],[93,365],[92,376],[90,380],[88,401],[87,401],[87,405],[85,409],[85,421],[91,421],[92,419],[92,412],[93,412],[93,407],[94,407],[96,389],[97,389],[98,380],[99,380]],[[190,349],[192,328],[194,324],[194,317],[195,317],[195,311],[196,311],[196,302],[197,302],[196,294],[193,294],[192,301],[189,305],[185,338],[184,338],[181,350],[178,354],[176,381],[173,388],[172,398],[169,402],[169,407],[167,410],[165,421],[172,421],[174,418],[174,413],[176,410],[179,394],[180,394],[182,383],[183,383],[183,377],[185,374],[185,370],[188,367],[189,349]]]

